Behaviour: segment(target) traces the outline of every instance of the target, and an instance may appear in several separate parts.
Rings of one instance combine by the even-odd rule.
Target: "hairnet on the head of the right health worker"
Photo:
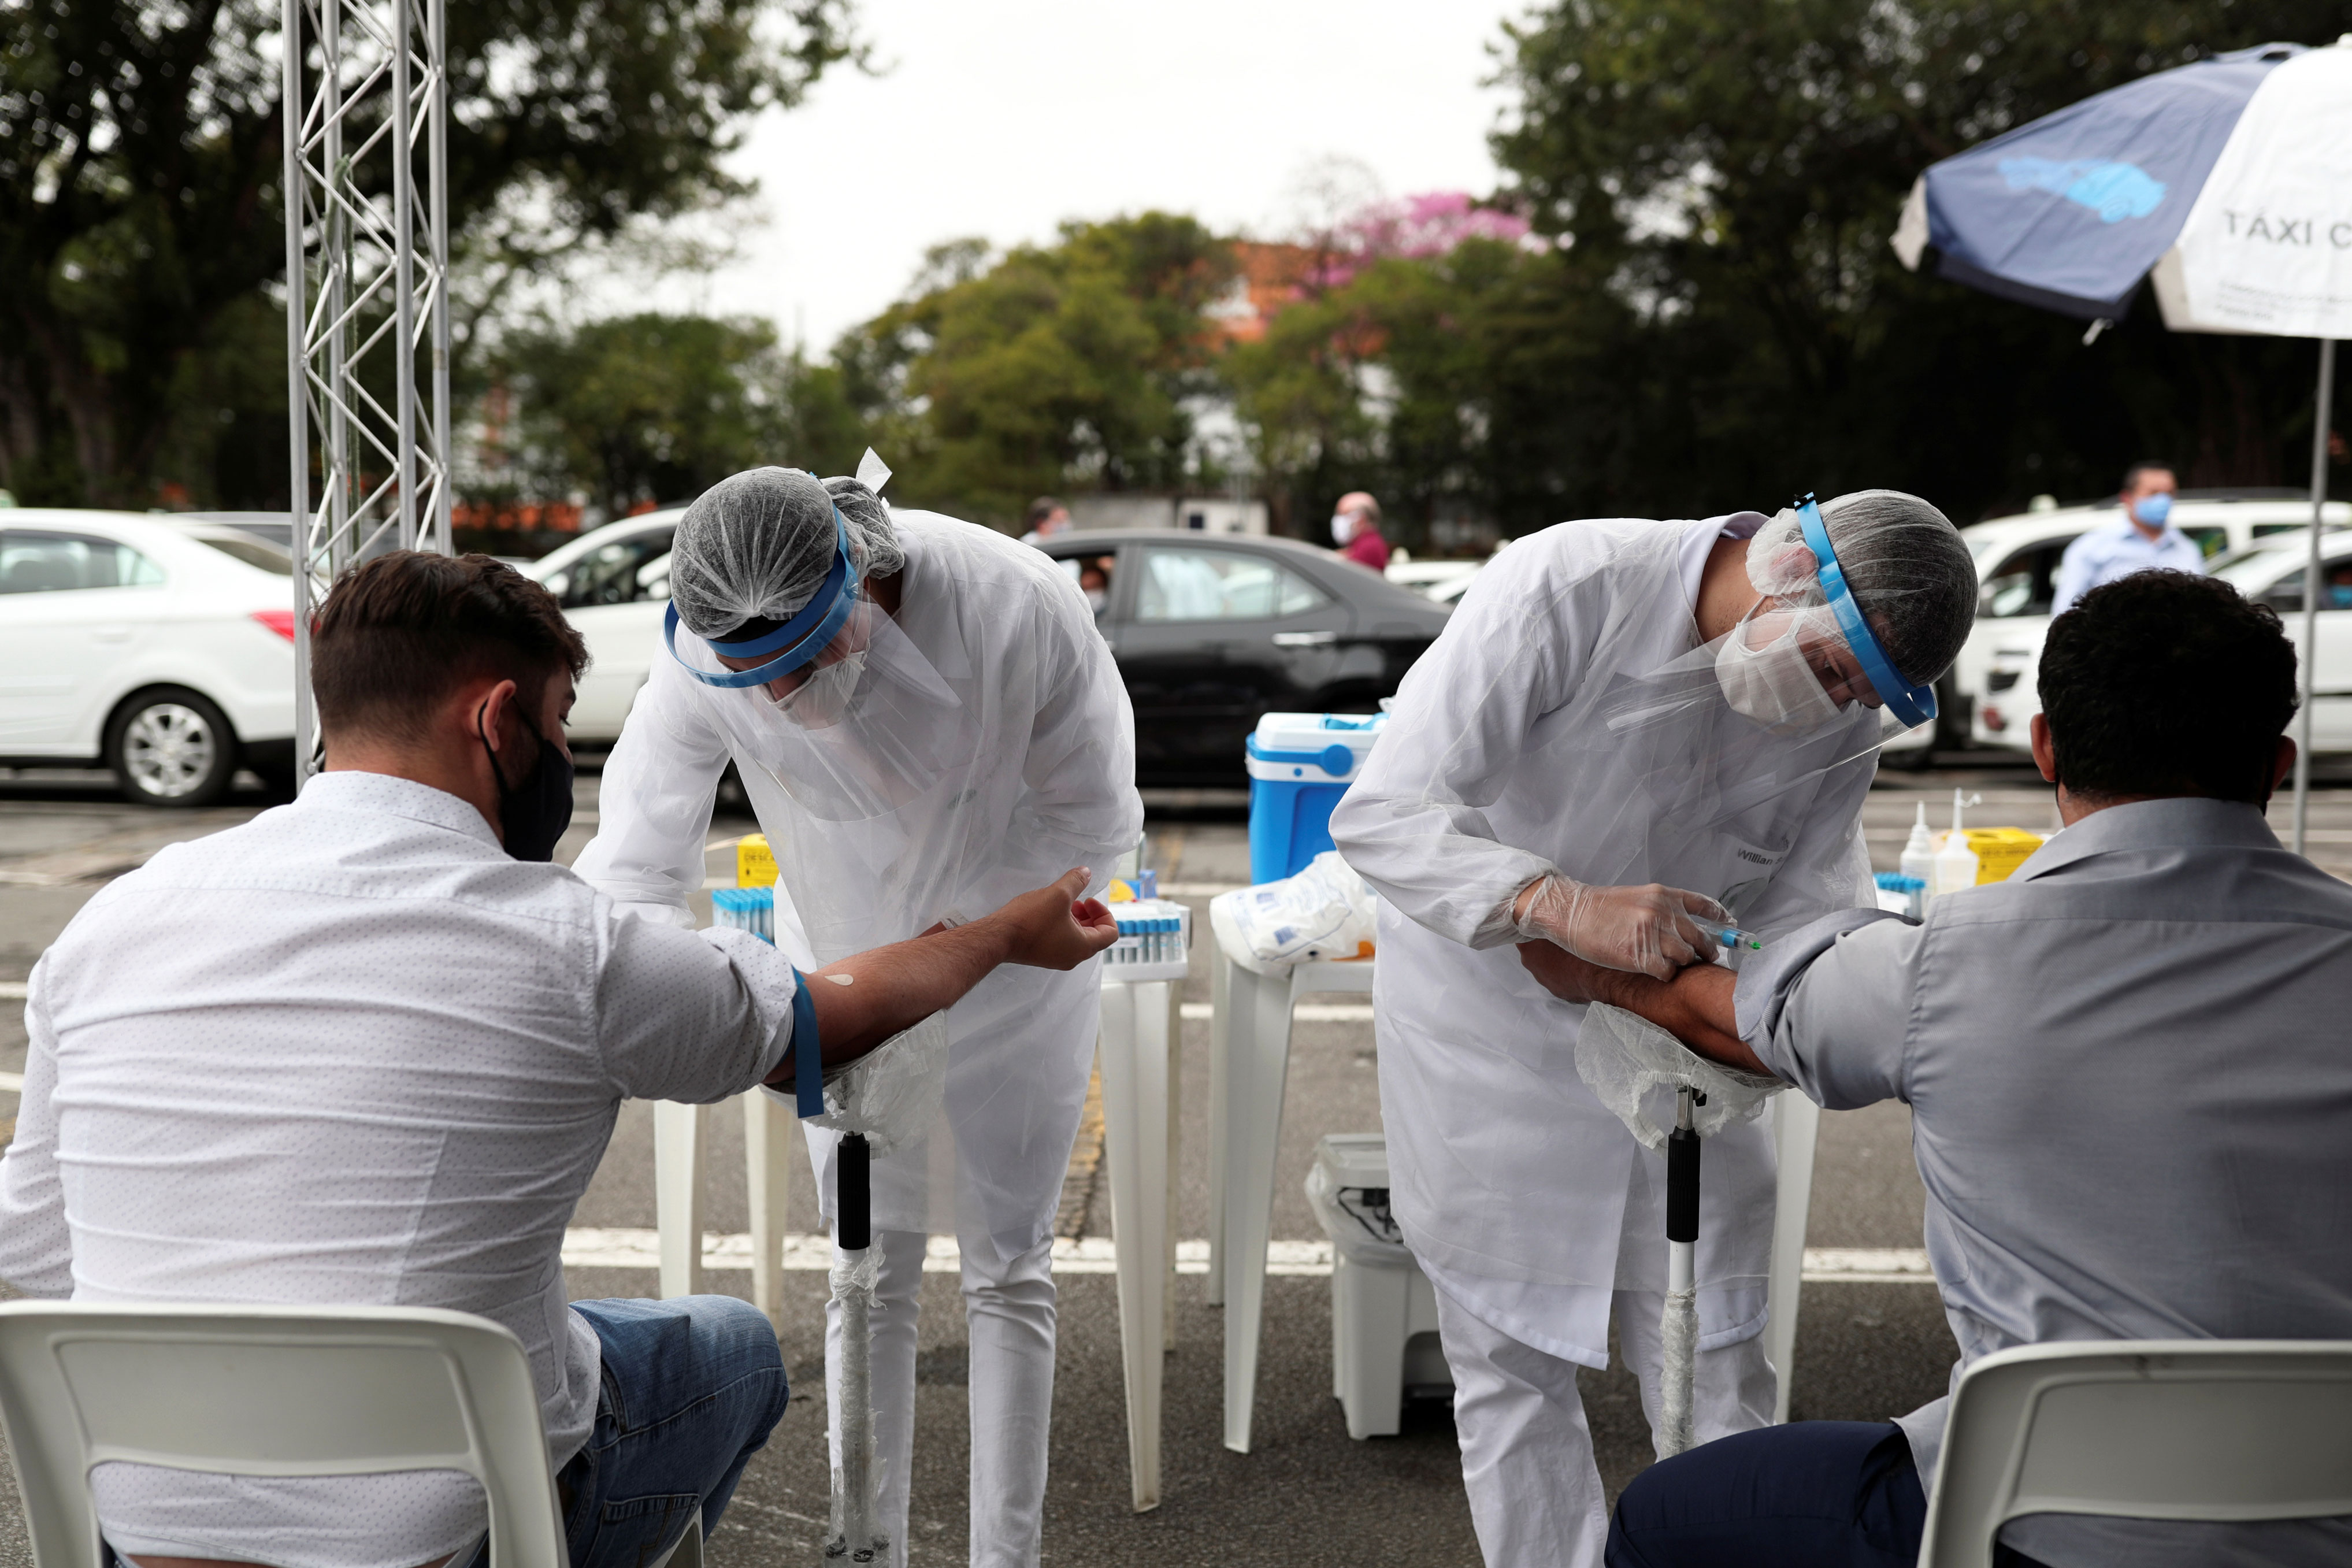
[[[1820,524],[1853,602],[1905,679],[1931,686],[1976,625],[1976,562],[1952,520],[1898,489],[1858,489],[1820,503]],[[1748,541],[1748,581],[1820,604],[1820,564],[1795,510]]]

